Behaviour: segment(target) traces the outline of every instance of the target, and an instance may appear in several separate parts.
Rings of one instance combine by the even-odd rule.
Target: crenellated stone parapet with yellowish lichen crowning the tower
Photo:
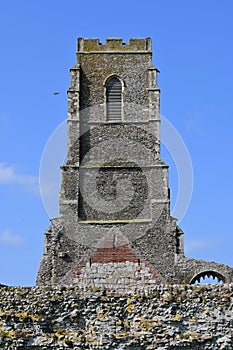
[[[151,38],[131,38],[124,43],[122,38],[107,38],[106,43],[100,43],[99,39],[78,38],[78,53],[93,52],[151,52]]]

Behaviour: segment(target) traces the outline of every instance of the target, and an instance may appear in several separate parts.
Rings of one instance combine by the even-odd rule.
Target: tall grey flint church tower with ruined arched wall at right
[[[232,269],[184,257],[160,159],[160,90],[151,39],[78,39],[59,218],[37,284],[128,288],[192,283]]]

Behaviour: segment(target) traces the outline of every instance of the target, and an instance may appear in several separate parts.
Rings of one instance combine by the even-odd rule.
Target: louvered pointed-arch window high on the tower
[[[112,78],[106,85],[107,119],[121,120],[122,85],[119,79]]]

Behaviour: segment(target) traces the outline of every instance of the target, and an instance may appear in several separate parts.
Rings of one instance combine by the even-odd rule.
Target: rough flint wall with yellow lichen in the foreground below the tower
[[[233,349],[233,284],[0,287],[1,349]]]

